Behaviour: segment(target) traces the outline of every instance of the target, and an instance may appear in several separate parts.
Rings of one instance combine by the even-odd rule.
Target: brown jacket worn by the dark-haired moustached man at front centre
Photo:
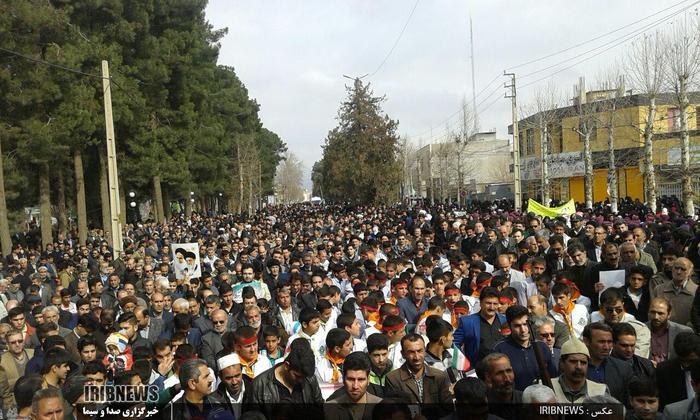
[[[418,385],[409,372],[407,363],[386,375],[385,386],[387,390],[396,389],[408,393],[413,404],[421,402],[418,398]],[[443,404],[446,409],[452,406],[450,379],[445,372],[428,365],[425,366],[422,403]]]

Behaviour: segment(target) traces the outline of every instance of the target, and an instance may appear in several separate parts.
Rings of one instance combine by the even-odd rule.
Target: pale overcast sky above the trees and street
[[[585,76],[590,87],[606,69],[622,61],[630,42],[614,46],[622,41],[616,39],[632,37],[682,8],[695,10],[694,3],[420,0],[393,53],[368,80],[376,95],[386,95],[384,111],[399,120],[401,135],[415,144],[439,139],[446,131],[445,120],[459,110],[462,98],[471,101],[471,14],[476,92],[486,88],[477,98],[478,109],[483,109],[480,127],[505,137],[511,106],[503,98],[505,89],[498,86],[506,79],[500,77],[487,87],[504,70],[515,71],[518,85],[523,86],[518,90],[519,105],[527,106],[535,89],[549,80],[571,97],[579,76]],[[414,4],[414,0],[210,0],[207,19],[215,28],[228,28],[219,63],[236,69],[260,104],[263,125],[279,134],[304,162],[308,175],[321,157],[326,134],[336,125],[345,85],[350,83],[343,75],[373,73]],[[667,27],[671,20],[650,30]],[[636,21],[640,22],[633,24]],[[513,68],[625,25],[630,26],[598,41]],[[574,58],[596,47],[601,48]],[[562,61],[566,63],[555,66]],[[573,64],[552,78],[525,86]],[[543,70],[550,66],[554,67]],[[520,79],[538,70],[542,71]],[[456,122],[454,117],[447,123]]]

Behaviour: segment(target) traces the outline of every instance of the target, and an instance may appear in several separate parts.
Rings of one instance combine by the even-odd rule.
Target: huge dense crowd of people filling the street
[[[602,403],[697,419],[700,230],[670,203],[557,218],[508,202],[180,215],[125,226],[120,255],[99,229],[45,249],[15,235],[3,418],[85,418],[108,405],[86,385],[143,385],[147,401],[109,406],[359,420]],[[198,243],[200,277],[175,274],[183,243]]]

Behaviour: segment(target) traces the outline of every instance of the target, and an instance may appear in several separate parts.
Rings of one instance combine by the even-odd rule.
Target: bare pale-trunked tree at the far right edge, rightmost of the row
[[[700,31],[697,17],[674,22],[669,33],[666,81],[675,93],[674,98],[680,117],[681,179],[683,185],[684,213],[695,213],[693,182],[690,173],[690,135],[688,133],[688,88],[696,82],[700,71]]]

